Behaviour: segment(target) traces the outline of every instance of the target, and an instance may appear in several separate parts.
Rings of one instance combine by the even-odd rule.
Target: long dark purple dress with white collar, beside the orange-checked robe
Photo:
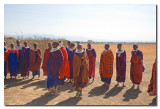
[[[126,79],[126,52],[117,50],[116,52],[116,81],[125,82]]]

